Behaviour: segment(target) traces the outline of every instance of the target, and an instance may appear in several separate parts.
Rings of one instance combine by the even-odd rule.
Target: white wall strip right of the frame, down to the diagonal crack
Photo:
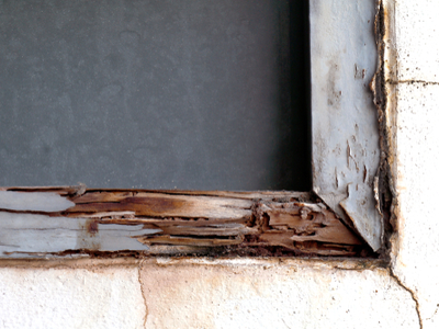
[[[393,272],[418,300],[423,328],[439,326],[439,2],[395,1],[397,224]]]

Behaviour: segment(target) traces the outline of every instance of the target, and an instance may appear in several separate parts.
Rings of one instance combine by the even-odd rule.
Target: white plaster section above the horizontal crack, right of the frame
[[[399,81],[439,82],[439,1],[394,2]]]

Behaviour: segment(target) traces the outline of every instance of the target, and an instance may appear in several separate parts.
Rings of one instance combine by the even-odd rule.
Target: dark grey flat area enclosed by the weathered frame
[[[309,190],[307,24],[307,1],[2,1],[0,185]]]

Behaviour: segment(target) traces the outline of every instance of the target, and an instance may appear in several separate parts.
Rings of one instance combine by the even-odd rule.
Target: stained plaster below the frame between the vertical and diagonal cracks
[[[147,328],[416,328],[410,294],[386,270],[306,262],[147,264]]]

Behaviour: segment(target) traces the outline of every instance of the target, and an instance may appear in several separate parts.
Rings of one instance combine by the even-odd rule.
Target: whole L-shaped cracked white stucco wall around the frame
[[[323,260],[4,261],[2,328],[438,328],[439,2],[389,1],[392,265]]]

